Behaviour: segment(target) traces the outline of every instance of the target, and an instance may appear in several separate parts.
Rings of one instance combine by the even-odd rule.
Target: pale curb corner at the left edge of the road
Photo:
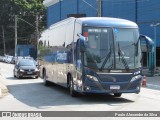
[[[8,88],[3,81],[4,81],[4,78],[0,75],[0,98],[8,94]]]

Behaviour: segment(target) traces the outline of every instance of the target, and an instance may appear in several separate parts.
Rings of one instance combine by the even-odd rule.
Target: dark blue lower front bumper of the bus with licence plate
[[[112,83],[112,82],[85,82],[83,86],[76,87],[75,91],[82,93],[139,93],[141,89],[141,79],[134,82]]]

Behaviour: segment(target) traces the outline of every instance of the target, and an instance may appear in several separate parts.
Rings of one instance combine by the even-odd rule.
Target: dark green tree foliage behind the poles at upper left
[[[0,0],[0,48],[3,49],[3,26],[6,49],[14,49],[15,15],[18,18],[18,43],[24,43],[24,41],[32,43],[35,40],[36,14],[38,15],[39,31],[41,31],[46,26],[45,13],[43,0]]]

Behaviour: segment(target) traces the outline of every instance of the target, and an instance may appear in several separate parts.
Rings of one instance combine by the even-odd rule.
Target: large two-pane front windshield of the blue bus
[[[99,70],[141,67],[138,29],[84,27],[83,35],[87,38],[86,67]]]

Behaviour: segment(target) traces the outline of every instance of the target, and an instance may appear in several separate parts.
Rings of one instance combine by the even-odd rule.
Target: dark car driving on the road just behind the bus
[[[32,59],[20,59],[16,62],[13,69],[14,77],[35,77],[39,76],[39,69]]]

